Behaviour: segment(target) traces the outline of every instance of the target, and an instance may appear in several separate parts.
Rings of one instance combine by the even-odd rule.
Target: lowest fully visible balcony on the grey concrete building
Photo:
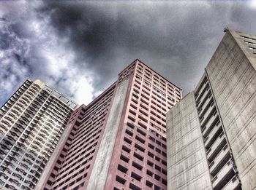
[[[212,186],[214,190],[222,189],[229,183],[229,181],[236,175],[233,165],[229,160],[227,164],[219,170],[219,173],[212,179]]]

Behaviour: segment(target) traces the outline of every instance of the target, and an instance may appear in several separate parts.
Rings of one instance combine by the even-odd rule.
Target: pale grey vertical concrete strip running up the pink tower
[[[127,94],[128,84],[129,79],[122,82],[121,85],[116,89],[116,94],[113,99],[113,106],[110,110],[105,131],[99,145],[99,151],[95,159],[94,168],[91,171],[87,189],[104,189],[108,174],[108,167],[116,140],[116,134],[124,107],[124,97]]]

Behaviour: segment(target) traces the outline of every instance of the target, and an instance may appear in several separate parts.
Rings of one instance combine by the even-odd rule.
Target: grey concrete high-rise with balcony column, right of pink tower
[[[256,188],[256,36],[225,29],[194,91],[167,113],[168,189]]]

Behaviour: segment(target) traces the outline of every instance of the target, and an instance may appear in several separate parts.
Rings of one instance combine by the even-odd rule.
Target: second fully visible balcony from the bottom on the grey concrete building
[[[227,163],[227,161],[230,159],[230,151],[226,146],[219,152],[217,157],[211,162],[209,165],[210,173],[212,176],[215,176],[219,170]]]

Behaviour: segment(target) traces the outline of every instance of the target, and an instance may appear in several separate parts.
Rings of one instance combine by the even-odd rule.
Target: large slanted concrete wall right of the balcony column
[[[237,38],[234,39],[234,36]],[[206,67],[243,189],[256,188],[256,71],[238,33],[227,31]],[[240,46],[236,42],[239,42]],[[244,53],[246,52],[246,53]]]

